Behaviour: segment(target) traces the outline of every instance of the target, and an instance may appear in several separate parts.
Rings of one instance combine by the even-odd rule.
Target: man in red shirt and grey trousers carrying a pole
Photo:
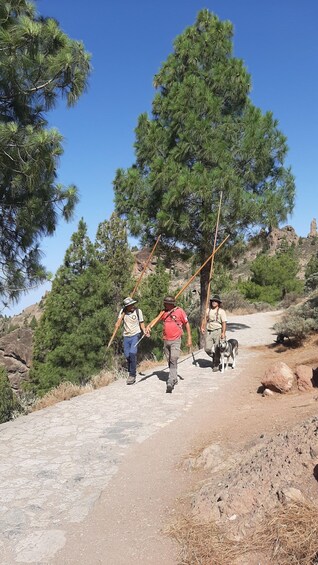
[[[169,366],[166,392],[172,392],[174,386],[178,384],[177,366],[183,326],[188,334],[188,347],[192,346],[192,337],[187,315],[182,308],[176,306],[175,299],[172,296],[167,296],[163,301],[163,306],[165,310],[161,317],[163,322],[163,350]]]

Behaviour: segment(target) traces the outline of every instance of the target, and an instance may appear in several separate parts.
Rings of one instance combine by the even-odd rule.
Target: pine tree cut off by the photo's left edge
[[[86,87],[89,55],[26,0],[0,4],[0,297],[16,299],[46,277],[39,241],[61,213],[69,220],[75,186],[56,182],[62,136],[46,113],[60,97],[73,106]]]

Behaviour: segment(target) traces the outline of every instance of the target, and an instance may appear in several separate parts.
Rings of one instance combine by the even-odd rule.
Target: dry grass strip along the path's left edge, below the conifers
[[[110,373],[109,371],[102,371],[98,375],[92,377],[89,383],[84,386],[75,385],[70,382],[63,382],[56,388],[50,390],[42,398],[37,400],[32,406],[32,412],[36,410],[42,410],[48,406],[53,406],[58,402],[63,402],[63,400],[70,400],[74,396],[81,396],[82,394],[87,394],[92,392],[97,388],[108,386],[116,378],[119,378],[119,374]]]

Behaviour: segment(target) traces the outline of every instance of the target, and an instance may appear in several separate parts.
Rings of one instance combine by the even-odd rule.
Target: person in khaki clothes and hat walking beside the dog
[[[222,300],[218,294],[210,298],[210,308],[206,312],[206,330],[201,326],[201,332],[205,333],[205,352],[212,357],[213,371],[219,370],[220,365],[220,339],[225,339],[226,313],[221,308]]]

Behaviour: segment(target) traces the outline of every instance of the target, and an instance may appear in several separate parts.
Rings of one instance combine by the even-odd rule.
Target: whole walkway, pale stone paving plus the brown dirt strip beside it
[[[116,382],[2,425],[0,562],[176,564],[178,547],[162,530],[203,478],[182,461],[209,443],[235,450],[315,413],[313,395],[256,394],[277,356],[267,348],[276,317],[231,318],[235,371],[212,373],[200,351],[196,366],[192,357],[180,363],[172,395],[159,367],[133,387]]]

